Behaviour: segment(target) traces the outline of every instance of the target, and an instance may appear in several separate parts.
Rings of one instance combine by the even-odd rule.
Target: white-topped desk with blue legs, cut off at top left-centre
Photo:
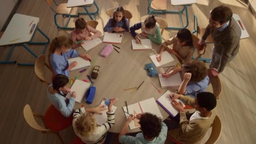
[[[87,8],[91,7],[93,4],[95,5],[97,11],[91,13],[88,11]],[[72,7],[83,7],[86,13],[78,13],[78,15],[88,15],[91,20],[95,20],[96,14],[99,14],[99,7],[94,0],[68,0],[67,8],[72,8]],[[94,18],[91,16],[91,14],[94,15]]]

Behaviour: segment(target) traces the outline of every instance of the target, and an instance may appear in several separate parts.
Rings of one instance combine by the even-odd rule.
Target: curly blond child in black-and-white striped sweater
[[[86,144],[103,144],[107,131],[115,125],[115,112],[112,110],[114,103],[115,99],[111,99],[108,105],[107,122],[103,125],[97,125],[92,113],[102,114],[101,111],[105,110],[104,105],[92,109],[84,107],[77,109],[73,114],[75,134]]]

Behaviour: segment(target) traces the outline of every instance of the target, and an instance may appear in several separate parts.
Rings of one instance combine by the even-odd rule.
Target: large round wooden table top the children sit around
[[[167,90],[167,88],[160,88],[160,82],[158,77],[149,77],[147,75],[148,72],[144,69],[145,64],[152,62],[149,59],[149,55],[153,55],[155,54],[155,52],[151,50],[133,51],[131,46],[131,40],[133,39],[133,36],[129,32],[121,33],[124,34],[123,41],[128,41],[123,44],[115,44],[118,47],[122,48],[120,50],[120,53],[117,53],[115,50],[113,50],[113,52],[107,58],[101,57],[100,52],[102,48],[104,48],[108,43],[101,43],[95,48],[89,50],[88,52],[85,52],[83,48],[78,48],[78,51],[80,53],[89,54],[93,58],[91,62],[92,65],[93,61],[96,60],[95,65],[99,65],[100,70],[97,79],[93,80],[94,86],[96,87],[96,95],[93,103],[86,104],[85,98],[83,98],[83,101],[81,103],[75,103],[74,109],[80,108],[82,104],[84,104],[85,107],[96,107],[101,103],[102,98],[119,98],[119,100],[115,103],[115,106],[118,107],[117,111],[115,112],[115,125],[109,130],[110,132],[114,133],[120,133],[126,121],[125,113],[122,108],[125,106],[125,101],[127,101],[127,104],[130,105],[152,97],[157,100]],[[101,40],[103,40],[103,37],[104,36],[100,37]],[[152,46],[155,51],[160,51],[161,45],[152,43]],[[176,56],[172,56],[175,61],[172,61],[169,64],[165,64],[162,67],[175,65],[179,62]],[[87,75],[91,74],[92,69],[93,66],[88,67],[88,69],[82,73],[79,73],[81,69],[71,71],[69,79],[78,76],[79,80],[88,80]],[[166,70],[166,68],[157,69],[159,73],[162,73]],[[169,71],[171,71],[171,68],[168,70],[168,72]],[[123,89],[125,88],[133,88],[138,86],[142,81],[144,81],[144,83],[141,85],[138,91],[132,94],[132,90],[123,91]],[[88,82],[90,83],[89,80]],[[162,93],[158,93],[158,91],[151,84],[151,82],[153,82],[158,88],[160,88],[162,90]],[[70,87],[70,83],[68,85]],[[175,92],[177,88],[168,89]],[[158,107],[161,114],[163,115],[163,120],[165,120],[169,116],[169,114],[165,112],[165,110],[159,105]],[[129,130],[128,133],[138,131],[141,130],[139,128],[135,128],[133,130]]]

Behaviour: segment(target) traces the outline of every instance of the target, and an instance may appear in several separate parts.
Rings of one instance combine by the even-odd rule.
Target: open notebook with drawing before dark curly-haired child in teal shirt
[[[157,117],[160,117],[161,119],[163,118],[159,108],[157,107],[157,103],[155,102],[154,98],[146,99],[144,101],[139,101],[135,104],[128,105],[128,113],[132,115],[137,115],[139,113],[144,113],[144,112],[150,112],[152,114],[157,115]],[[123,107],[123,110],[127,112],[126,106]],[[128,118],[129,115],[125,113],[125,117]],[[134,128],[139,128],[139,120],[134,119],[131,121],[129,124],[130,129]]]

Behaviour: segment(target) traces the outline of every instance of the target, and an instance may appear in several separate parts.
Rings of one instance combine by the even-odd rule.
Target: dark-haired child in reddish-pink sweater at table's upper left
[[[94,35],[91,35],[91,33],[93,33]],[[91,26],[86,24],[83,18],[79,18],[75,21],[75,29],[71,32],[71,39],[74,43],[72,45],[72,49],[81,46],[81,43],[75,43],[76,41],[92,40],[99,36],[101,36],[101,32],[99,30],[93,29]]]

